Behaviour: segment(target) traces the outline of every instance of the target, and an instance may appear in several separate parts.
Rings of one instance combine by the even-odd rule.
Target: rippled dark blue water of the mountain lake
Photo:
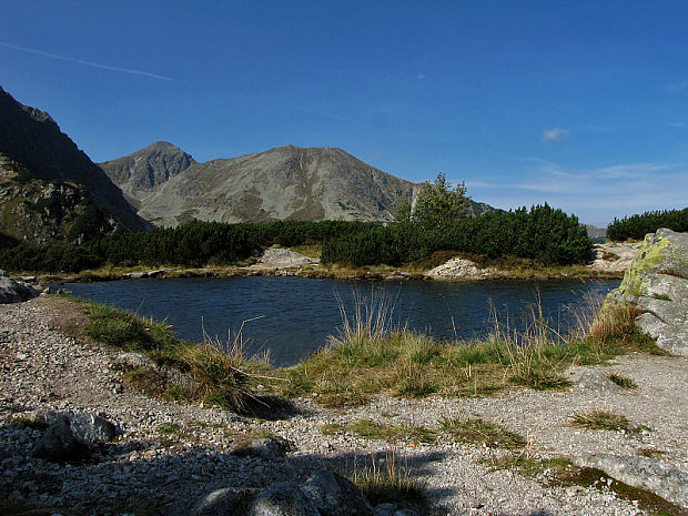
[[[270,352],[275,366],[292,365],[324,346],[342,326],[342,306],[381,303],[394,325],[441,341],[486,336],[496,318],[523,330],[534,307],[566,334],[589,300],[616,289],[618,280],[495,280],[368,282],[302,277],[215,277],[69,283],[80,297],[172,324],[178,337],[202,342],[203,332],[226,341],[242,331],[250,354]]]

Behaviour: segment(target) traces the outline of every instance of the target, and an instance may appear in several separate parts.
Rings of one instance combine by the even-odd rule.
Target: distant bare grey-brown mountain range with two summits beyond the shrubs
[[[156,166],[165,160],[153,164],[149,158],[158,155],[158,150],[151,152],[156,145],[160,148],[160,142],[101,165],[139,206],[139,214],[155,225],[172,226],[192,217],[222,222],[391,221],[399,203],[421,190],[419,184],[382,172],[341,149],[294,145],[193,163],[181,170],[185,165],[181,158],[191,156],[164,144],[160,151],[174,156],[168,162],[176,165],[166,172],[168,181],[162,181],[165,172]],[[141,172],[129,174],[136,158]],[[150,176],[160,181],[153,184]],[[141,180],[145,185],[133,188]],[[473,210],[477,214],[490,208],[473,203]]]

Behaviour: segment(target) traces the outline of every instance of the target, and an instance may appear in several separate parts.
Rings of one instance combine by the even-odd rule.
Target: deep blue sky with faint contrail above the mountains
[[[93,161],[340,146],[583,222],[688,202],[688,1],[0,0],[0,85]]]

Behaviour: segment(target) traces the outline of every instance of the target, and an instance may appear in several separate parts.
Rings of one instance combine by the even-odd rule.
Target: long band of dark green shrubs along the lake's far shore
[[[75,221],[70,237],[93,234],[107,224],[93,206]],[[378,222],[277,221],[239,223],[190,221],[176,227],[140,233],[115,231],[81,245],[29,245],[11,251],[0,246],[0,267],[13,271],[80,272],[104,264],[119,266],[200,267],[249,259],[273,244],[294,246],[323,243],[323,263],[353,266],[404,263],[426,259],[437,251],[457,251],[489,257],[519,256],[549,264],[586,263],[593,243],[573,215],[534,206],[513,212],[495,211],[459,217],[442,227],[412,221]]]

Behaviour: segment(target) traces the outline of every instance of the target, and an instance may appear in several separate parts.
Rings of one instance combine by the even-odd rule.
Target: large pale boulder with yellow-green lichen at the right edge
[[[660,348],[688,356],[688,233],[647,234],[609,300],[638,305],[636,324]]]

